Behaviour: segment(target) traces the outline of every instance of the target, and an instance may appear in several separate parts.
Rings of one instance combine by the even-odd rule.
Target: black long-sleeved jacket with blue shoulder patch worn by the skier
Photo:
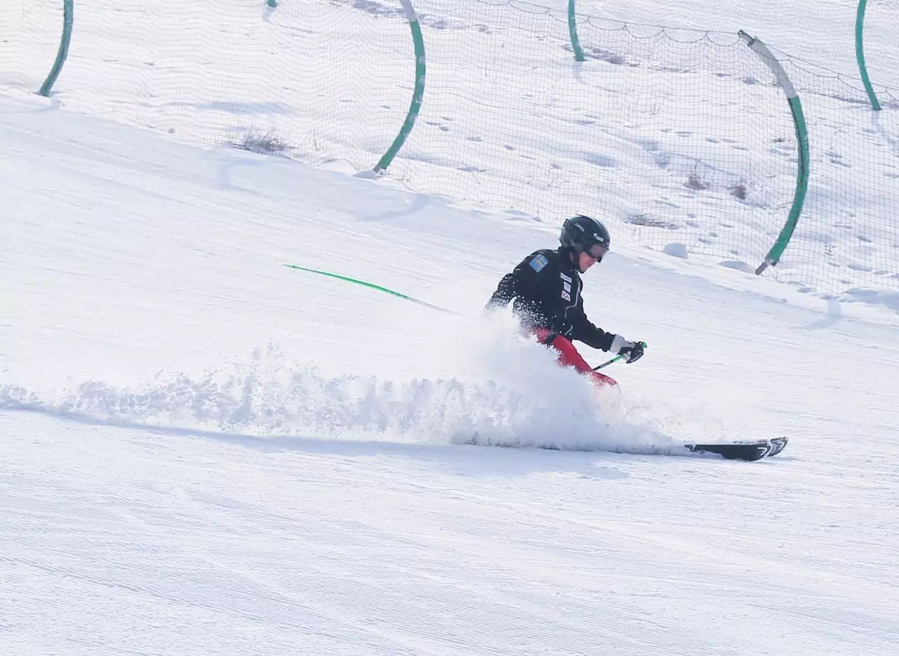
[[[580,271],[572,263],[573,251],[559,248],[530,253],[500,280],[486,308],[505,307],[527,329],[547,328],[594,349],[609,350],[615,335],[597,328],[583,313]]]

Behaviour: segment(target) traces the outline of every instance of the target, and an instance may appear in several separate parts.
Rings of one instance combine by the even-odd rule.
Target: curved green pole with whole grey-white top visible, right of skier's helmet
[[[793,236],[793,231],[796,230],[799,216],[802,214],[802,206],[806,202],[806,193],[808,191],[808,129],[806,127],[806,116],[802,111],[802,102],[799,100],[799,94],[796,93],[793,83],[789,81],[787,71],[784,70],[783,66],[780,66],[780,62],[774,57],[768,46],[742,30],[739,34],[740,38],[746,41],[746,45],[762,58],[765,65],[778,78],[778,84],[780,84],[780,88],[783,89],[784,94],[787,96],[799,144],[799,171],[796,181],[796,194],[793,197],[793,207],[789,210],[787,223],[780,230],[778,240],[771,246],[765,261],[761,262],[761,265],[755,270],[756,275],[759,275],[763,270],[780,262],[780,256],[786,250],[790,237]]]

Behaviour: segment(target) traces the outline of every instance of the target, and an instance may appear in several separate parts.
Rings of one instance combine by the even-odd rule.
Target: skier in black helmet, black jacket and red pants
[[[617,386],[612,378],[593,371],[572,343],[583,341],[594,349],[627,356],[628,364],[643,356],[641,342],[597,328],[583,312],[580,274],[609,253],[609,231],[595,218],[578,215],[565,219],[559,241],[558,249],[530,253],[503,276],[485,310],[508,306],[514,298],[512,311],[522,328],[556,349],[559,364],[589,374],[597,386]]]

